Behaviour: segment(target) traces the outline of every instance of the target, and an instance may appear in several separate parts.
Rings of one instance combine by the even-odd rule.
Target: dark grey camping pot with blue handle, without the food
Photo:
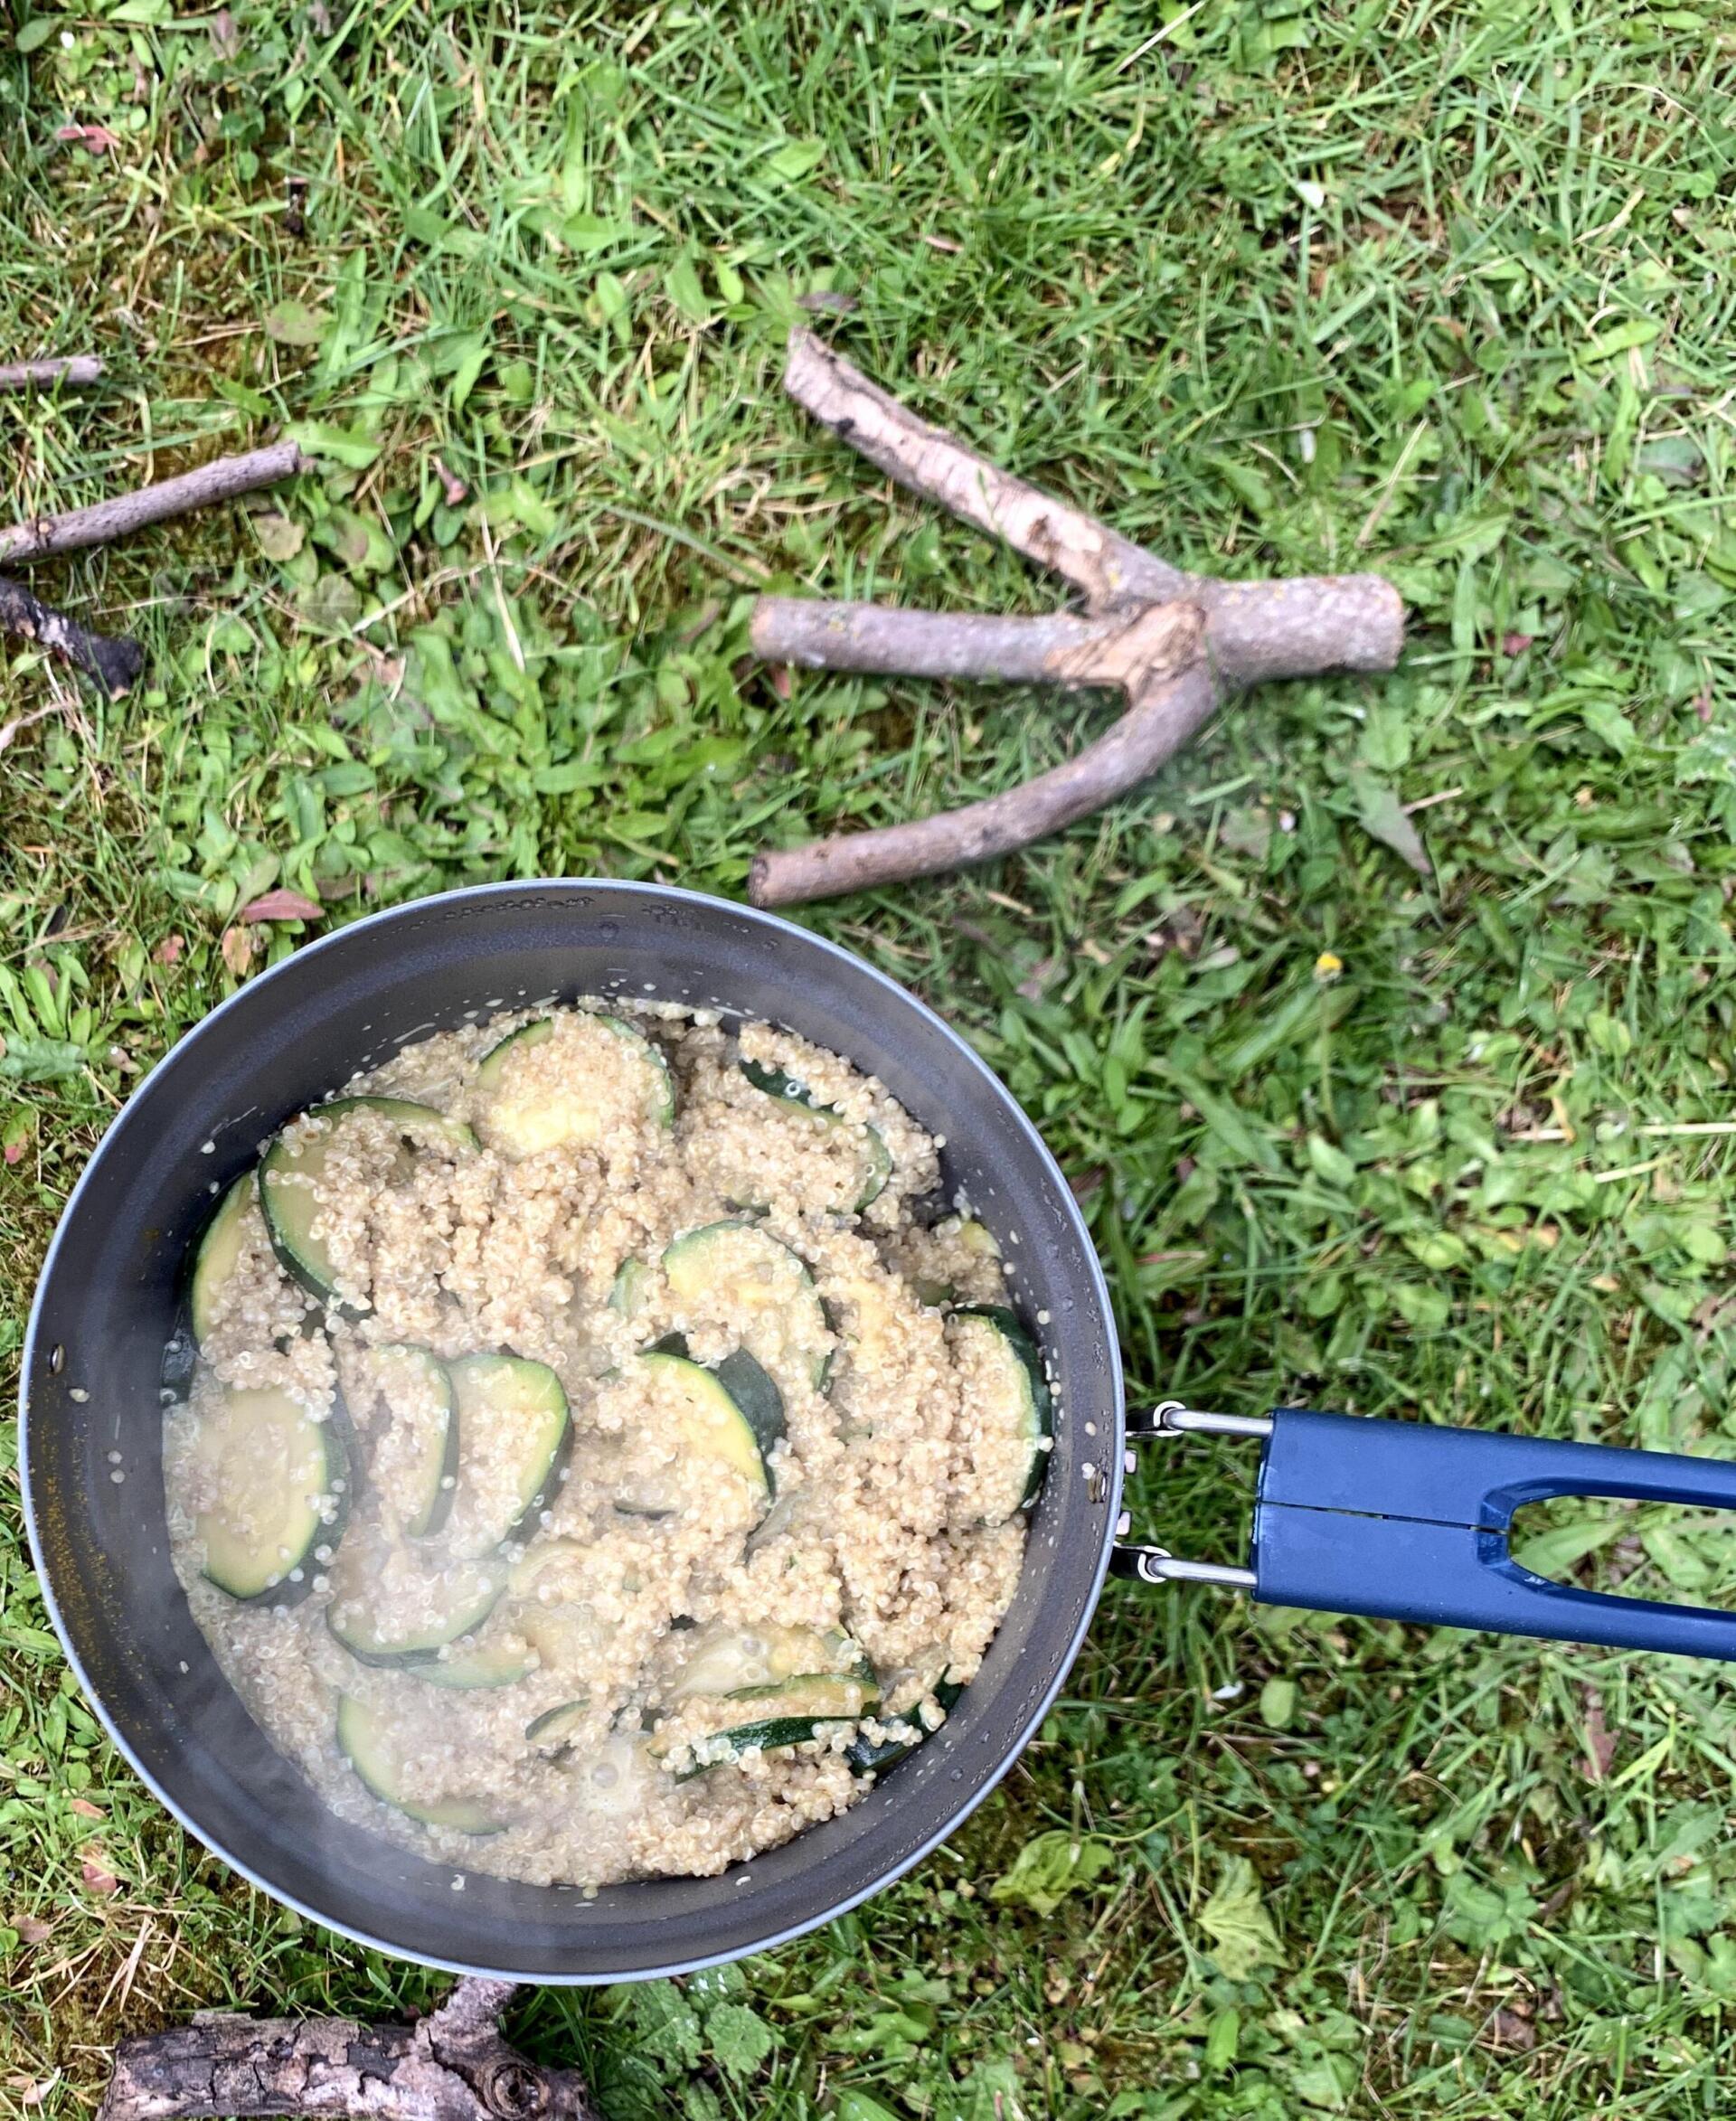
[[[1025,1567],[978,1678],[840,1818],[705,1879],[522,1886],[335,1818],[219,1671],[170,1567],[163,1347],[189,1243],[291,1114],[399,1046],[526,997],[620,995],[783,1024],[879,1075],[944,1137],[1055,1379]],[[1263,1440],[1248,1567],[1118,1544],[1129,1440]],[[119,1455],[119,1457],[117,1457]],[[673,1975],[783,1943],[919,1862],[993,1790],[1055,1701],[1104,1576],[1199,1578],[1284,1606],[1736,1657],[1721,1612],[1600,1597],[1507,1555],[1545,1495],[1736,1504],[1736,1466],[1280,1408],[1129,1419],[1104,1273],[1031,1122],[972,1048],[836,944],[658,884],[488,884],[357,921],[248,982],[138,1088],[49,1249],[23,1357],[23,1493],[79,1680],[170,1811],[265,1892],[361,1943],[524,1981]]]

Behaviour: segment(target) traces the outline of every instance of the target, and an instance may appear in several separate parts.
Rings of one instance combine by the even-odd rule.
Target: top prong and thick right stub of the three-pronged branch
[[[800,327],[789,333],[783,388],[900,486],[1061,575],[1084,596],[1087,611],[1171,600],[1199,604],[1212,664],[1227,685],[1322,670],[1390,670],[1399,660],[1405,609],[1379,575],[1299,575],[1292,581],[1186,575],[919,420]]]

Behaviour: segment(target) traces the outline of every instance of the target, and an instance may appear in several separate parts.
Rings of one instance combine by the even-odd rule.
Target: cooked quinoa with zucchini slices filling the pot
[[[261,1150],[199,1249],[168,1517],[333,1811],[533,1883],[711,1875],[944,1720],[1046,1391],[876,1080],[579,1003],[407,1046]]]

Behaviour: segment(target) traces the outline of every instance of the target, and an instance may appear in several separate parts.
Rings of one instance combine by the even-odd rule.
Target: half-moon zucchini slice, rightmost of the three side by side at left
[[[543,1506],[571,1438],[560,1379],[522,1355],[461,1355],[446,1366],[458,1402],[452,1553],[478,1561]]]

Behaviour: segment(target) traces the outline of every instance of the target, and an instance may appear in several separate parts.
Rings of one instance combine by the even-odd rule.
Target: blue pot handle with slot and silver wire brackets
[[[1513,1512],[1551,1495],[1736,1510],[1736,1463],[1728,1459],[1299,1406],[1248,1417],[1167,1404],[1148,1425],[1129,1427],[1131,1438],[1186,1432],[1265,1438],[1250,1567],[1118,1546],[1112,1565],[1121,1576],[1227,1582],[1267,1606],[1736,1661],[1736,1612],[1579,1591],[1534,1576],[1507,1550]]]

